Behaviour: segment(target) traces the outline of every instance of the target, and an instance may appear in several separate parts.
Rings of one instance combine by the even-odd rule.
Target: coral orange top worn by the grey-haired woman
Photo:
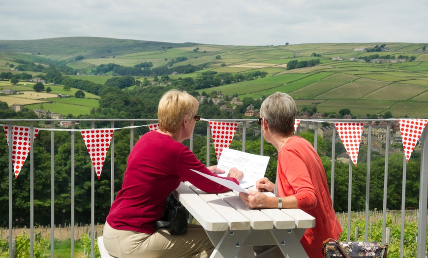
[[[315,218],[300,241],[309,258],[322,258],[322,243],[339,239],[337,220],[324,166],[313,146],[300,136],[291,137],[279,150],[276,177],[278,196],[294,195],[298,207]]]

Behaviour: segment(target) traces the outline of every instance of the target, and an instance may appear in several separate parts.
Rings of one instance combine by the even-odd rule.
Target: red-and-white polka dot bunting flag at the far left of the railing
[[[3,126],[3,129],[6,134],[7,145],[9,145],[9,133],[12,133],[12,166],[15,178],[17,178],[24,162],[27,160],[28,154],[30,153],[30,128],[12,126],[12,129],[9,129],[8,126]],[[39,129],[33,129],[33,141],[37,137],[38,131]]]

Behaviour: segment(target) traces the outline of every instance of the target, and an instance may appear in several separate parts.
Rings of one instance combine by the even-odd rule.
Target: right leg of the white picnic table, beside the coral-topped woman
[[[306,228],[284,230],[276,228],[270,229],[276,244],[286,258],[304,258],[307,257],[305,249],[303,249],[300,240],[305,234]]]

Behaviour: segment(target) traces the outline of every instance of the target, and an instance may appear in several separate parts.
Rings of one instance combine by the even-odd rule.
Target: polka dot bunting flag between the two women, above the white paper
[[[238,127],[238,123],[229,122],[213,122],[209,121],[211,134],[213,135],[213,143],[215,156],[220,159],[221,152],[224,148],[228,148],[232,143],[233,135]]]

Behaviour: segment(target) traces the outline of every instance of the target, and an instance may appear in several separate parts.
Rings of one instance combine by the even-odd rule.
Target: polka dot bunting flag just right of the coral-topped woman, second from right
[[[342,140],[343,146],[348,152],[349,158],[357,165],[358,152],[360,150],[363,123],[336,123],[336,130]]]

